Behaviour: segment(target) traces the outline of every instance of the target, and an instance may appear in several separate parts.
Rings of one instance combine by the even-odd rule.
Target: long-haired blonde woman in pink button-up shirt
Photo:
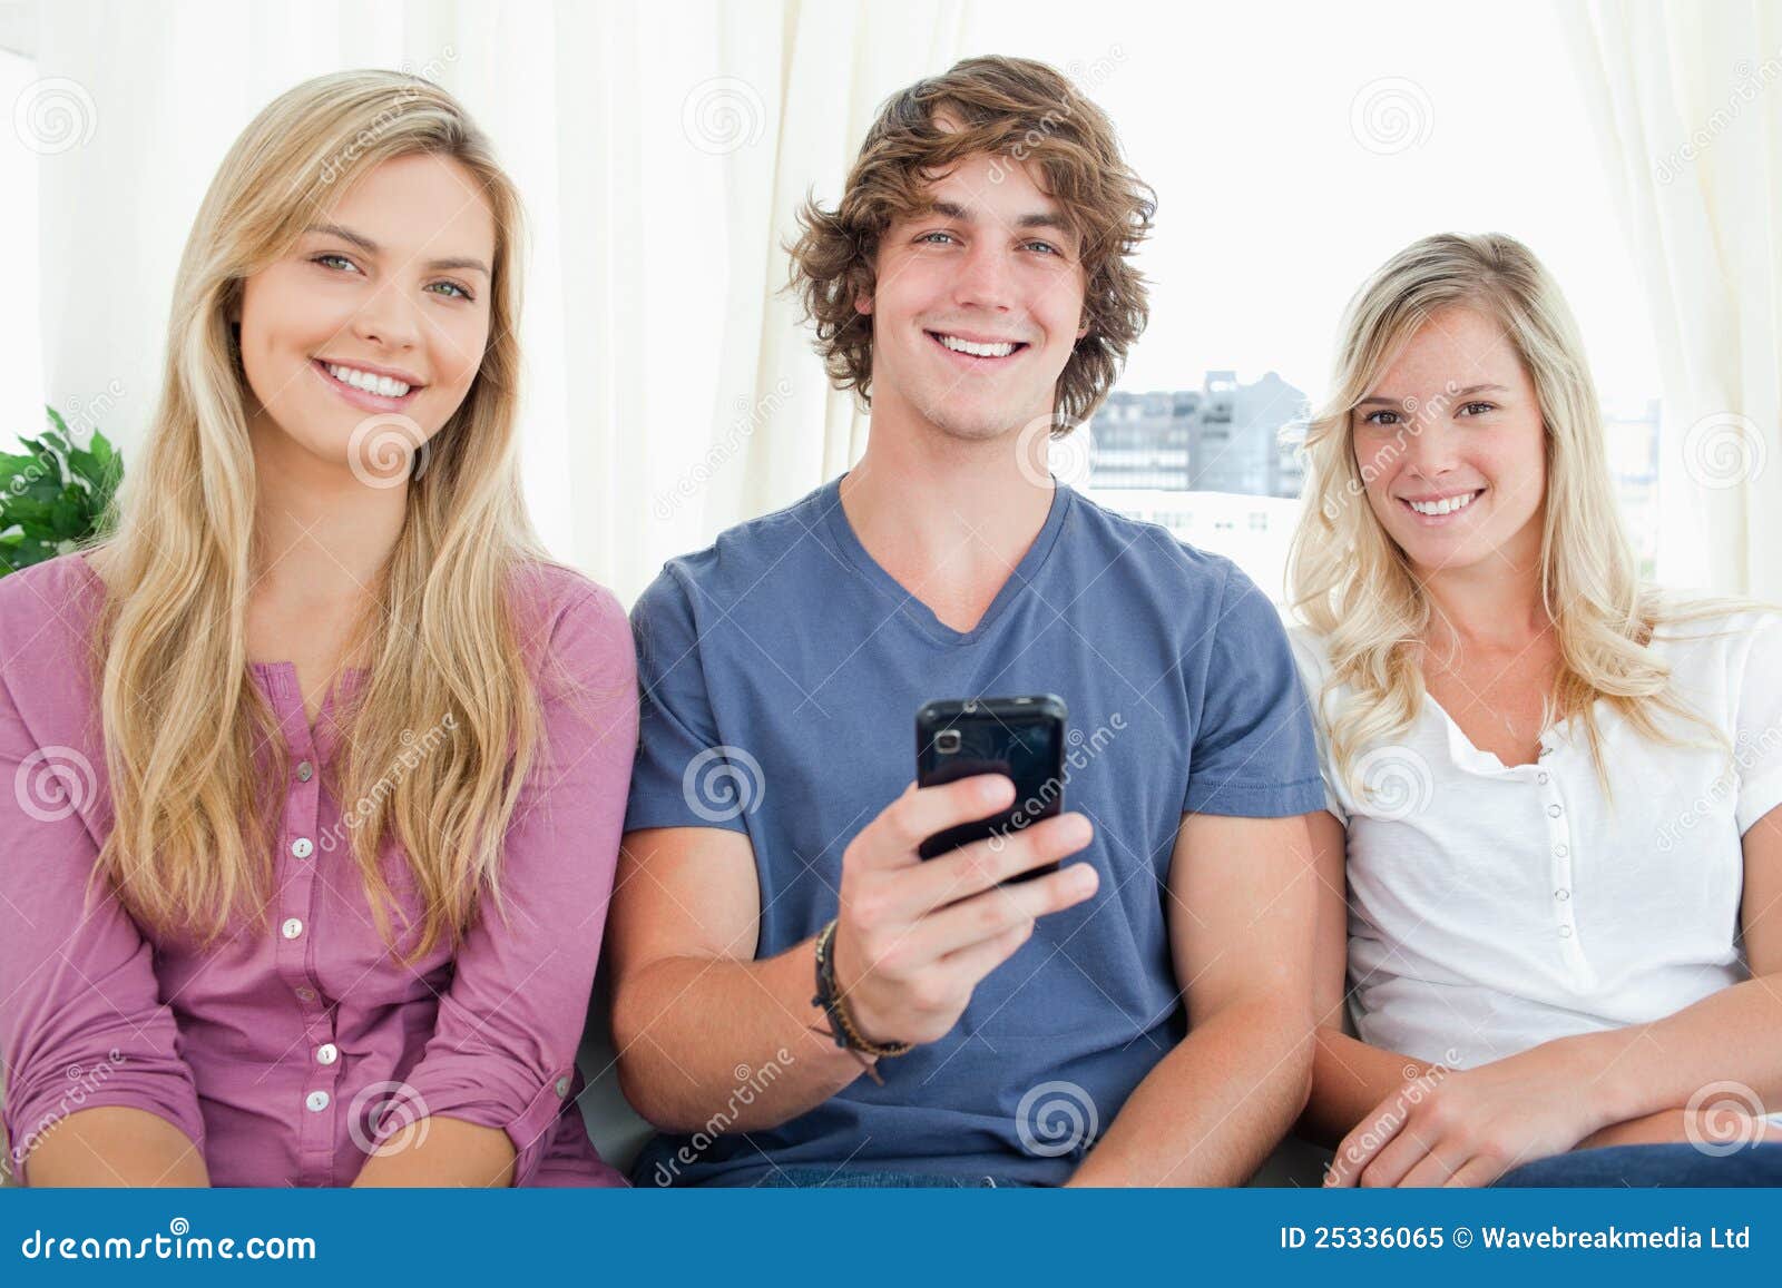
[[[114,534],[0,579],[27,1181],[620,1183],[574,1060],[634,657],[520,501],[519,214],[424,80],[276,100]]]

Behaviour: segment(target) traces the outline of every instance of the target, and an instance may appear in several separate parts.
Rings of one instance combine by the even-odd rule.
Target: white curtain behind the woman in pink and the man
[[[217,162],[278,93],[358,66],[458,94],[526,196],[526,479],[560,558],[629,602],[864,447],[782,244],[875,107],[959,55],[960,0],[57,0],[34,25],[80,135],[39,171],[45,388],[127,460]]]

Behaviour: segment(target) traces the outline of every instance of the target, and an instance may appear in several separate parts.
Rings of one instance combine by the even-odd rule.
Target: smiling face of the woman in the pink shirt
[[[372,167],[242,283],[235,321],[257,431],[387,474],[367,452],[419,449],[470,392],[494,258],[495,219],[469,169],[437,155]]]

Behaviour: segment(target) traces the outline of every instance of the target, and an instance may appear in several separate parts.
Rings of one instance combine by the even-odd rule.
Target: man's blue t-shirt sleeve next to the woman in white
[[[1324,809],[1312,716],[1269,599],[1226,568],[1203,672],[1183,812],[1283,818]]]

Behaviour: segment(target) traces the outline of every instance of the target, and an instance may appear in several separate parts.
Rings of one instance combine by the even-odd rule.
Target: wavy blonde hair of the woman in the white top
[[[1320,718],[1326,697],[1351,688],[1342,709],[1329,713],[1331,757],[1360,791],[1361,752],[1397,741],[1422,709],[1420,659],[1433,607],[1367,502],[1353,412],[1429,315],[1452,305],[1493,317],[1534,385],[1547,444],[1541,602],[1561,656],[1545,716],[1579,721],[1607,786],[1597,702],[1657,741],[1677,741],[1663,714],[1707,725],[1673,693],[1652,638],[1666,624],[1741,606],[1684,606],[1641,584],[1577,322],[1541,262],[1502,233],[1413,242],[1367,280],[1344,315],[1331,394],[1306,431],[1304,508],[1288,554],[1292,606],[1329,652],[1324,693],[1313,695]]]

